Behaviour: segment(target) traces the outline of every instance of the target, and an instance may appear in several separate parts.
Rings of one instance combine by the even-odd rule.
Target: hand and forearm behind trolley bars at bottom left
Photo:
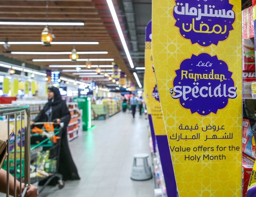
[[[0,170],[0,192],[6,193],[6,175],[7,172],[4,169]],[[22,183],[21,191],[25,188],[25,184]],[[10,195],[14,195],[14,177],[10,174],[9,175],[9,192]],[[16,193],[17,196],[20,197],[20,181],[16,180]],[[27,192],[25,193],[25,197],[36,197],[38,196],[37,187],[30,185]]]

